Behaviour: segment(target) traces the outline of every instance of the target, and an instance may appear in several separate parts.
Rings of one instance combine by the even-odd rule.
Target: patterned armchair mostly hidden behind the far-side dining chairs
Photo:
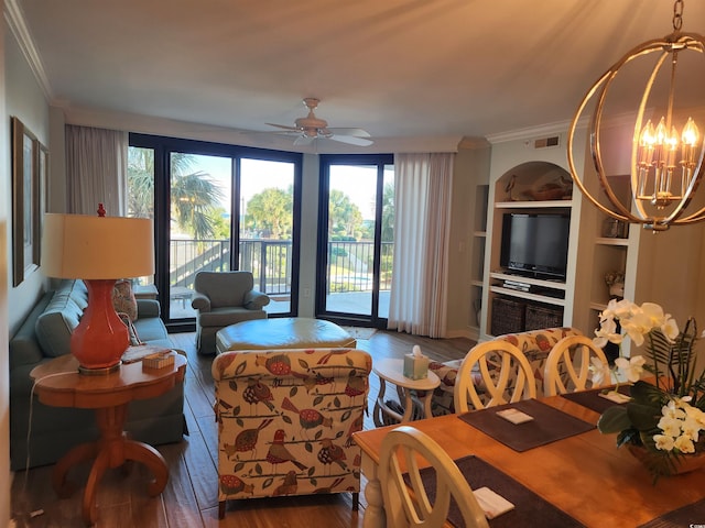
[[[555,343],[568,336],[583,336],[583,332],[575,328],[545,328],[529,332],[508,333],[495,339],[509,341],[527,355],[536,381],[536,394],[544,394],[543,366],[549,356],[549,352],[551,352]],[[431,399],[431,410],[434,416],[455,413],[453,391],[460,363],[463,363],[463,360],[453,360],[443,363],[434,361],[429,365],[429,369],[435,372],[441,378],[441,385],[434,391],[433,398]],[[479,381],[480,378],[481,376],[479,376],[478,373],[477,380]]]

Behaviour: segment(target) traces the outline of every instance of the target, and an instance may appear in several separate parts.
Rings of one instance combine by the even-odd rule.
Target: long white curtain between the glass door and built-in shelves
[[[394,156],[391,330],[445,337],[454,160],[452,153]]]

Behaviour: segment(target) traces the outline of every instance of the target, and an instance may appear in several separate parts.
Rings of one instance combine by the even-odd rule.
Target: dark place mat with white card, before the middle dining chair
[[[497,416],[498,410],[508,408],[519,409],[533,420],[514,425]],[[594,425],[535,399],[471,410],[458,418],[519,452],[595,429]]]

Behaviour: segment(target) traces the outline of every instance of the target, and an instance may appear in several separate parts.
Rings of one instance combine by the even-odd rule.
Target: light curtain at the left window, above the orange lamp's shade
[[[66,125],[68,212],[127,216],[128,146],[127,132]]]

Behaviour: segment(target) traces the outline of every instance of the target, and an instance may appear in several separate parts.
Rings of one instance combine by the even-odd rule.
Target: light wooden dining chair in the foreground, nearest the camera
[[[429,498],[420,472],[420,459],[435,470],[435,501]],[[404,481],[404,471],[409,483]],[[400,426],[382,440],[379,479],[384,499],[387,527],[444,526],[455,499],[468,528],[488,527],[470,485],[453,459],[425,432]]]

